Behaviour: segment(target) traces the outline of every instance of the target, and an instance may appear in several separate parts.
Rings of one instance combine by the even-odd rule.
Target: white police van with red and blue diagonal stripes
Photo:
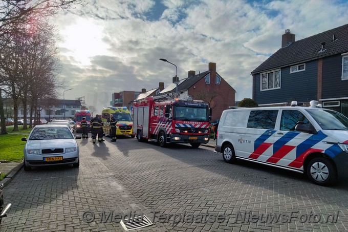
[[[334,183],[348,176],[348,118],[317,104],[225,110],[214,152],[229,163],[243,159]]]

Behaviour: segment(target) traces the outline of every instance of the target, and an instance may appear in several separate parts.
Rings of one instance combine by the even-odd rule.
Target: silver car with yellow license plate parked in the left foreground
[[[68,126],[62,124],[36,125],[30,132],[24,147],[24,170],[33,166],[50,166],[59,164],[80,165],[79,146]]]

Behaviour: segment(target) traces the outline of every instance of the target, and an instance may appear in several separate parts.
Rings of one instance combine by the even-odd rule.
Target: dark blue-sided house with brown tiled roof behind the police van
[[[286,30],[281,48],[251,74],[259,106],[317,100],[348,116],[348,24],[298,41]]]

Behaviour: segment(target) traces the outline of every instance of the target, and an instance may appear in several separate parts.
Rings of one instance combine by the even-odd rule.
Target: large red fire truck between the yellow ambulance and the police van
[[[197,148],[209,141],[211,108],[192,99],[147,97],[133,103],[133,134],[138,141],[190,143]]]

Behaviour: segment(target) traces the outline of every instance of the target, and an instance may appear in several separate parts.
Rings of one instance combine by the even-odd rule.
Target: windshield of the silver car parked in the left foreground
[[[47,139],[73,139],[73,134],[69,131],[69,128],[59,127],[47,127],[47,128],[34,128],[29,140],[47,140]]]

